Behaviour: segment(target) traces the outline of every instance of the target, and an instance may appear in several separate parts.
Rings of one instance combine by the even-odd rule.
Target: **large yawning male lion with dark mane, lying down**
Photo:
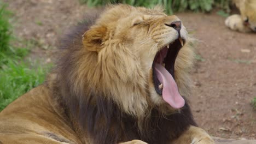
[[[109,5],[61,41],[42,85],[0,113],[0,141],[214,143],[189,107],[191,46],[161,7]]]

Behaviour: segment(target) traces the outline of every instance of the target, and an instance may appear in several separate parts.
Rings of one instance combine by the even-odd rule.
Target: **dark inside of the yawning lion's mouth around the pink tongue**
[[[152,65],[152,69],[153,69],[153,82],[154,82],[155,91],[159,95],[162,95],[162,87],[164,86],[163,86],[163,83],[161,83],[158,77],[156,76],[155,63],[163,65],[165,69],[168,71],[168,73],[170,73],[174,79],[175,60],[179,50],[181,50],[184,44],[185,44],[185,40],[179,37],[178,39],[162,47],[162,49],[158,51],[158,53],[156,53],[156,56],[154,58],[154,62]]]

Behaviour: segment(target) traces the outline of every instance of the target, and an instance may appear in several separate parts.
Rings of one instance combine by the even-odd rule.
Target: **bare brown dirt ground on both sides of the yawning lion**
[[[15,13],[14,34],[37,41],[32,58],[52,61],[57,39],[95,9],[77,0],[4,0]],[[190,101],[200,127],[212,136],[256,139],[256,34],[230,31],[224,17],[179,13],[199,43]]]

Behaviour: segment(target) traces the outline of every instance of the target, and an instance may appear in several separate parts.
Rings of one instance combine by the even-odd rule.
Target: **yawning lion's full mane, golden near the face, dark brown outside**
[[[119,13],[129,13],[127,9]],[[72,120],[75,131],[81,136],[88,135],[95,143],[118,143],[133,139],[165,143],[176,139],[189,125],[196,125],[187,100],[183,109],[171,115],[162,113],[160,107],[150,104],[147,94],[143,92],[147,79],[143,71],[134,73],[138,65],[130,51],[119,49],[119,41],[111,44],[108,50],[99,52],[104,47],[98,43],[108,39],[111,33],[106,33],[104,26],[96,28],[97,19],[97,14],[87,18],[61,41],[61,56],[54,70],[57,78],[51,84],[55,85],[53,91],[56,95],[61,95],[65,112]],[[85,32],[98,38],[86,37],[84,39],[90,43],[84,44]],[[179,55],[182,57],[185,52],[189,50],[184,48]],[[183,57],[187,58],[185,55]],[[189,61],[184,64],[181,58],[177,61],[181,61],[177,62],[181,63],[181,68],[177,69],[186,69],[190,64]],[[184,72],[180,74],[187,75]],[[189,77],[183,79],[189,80]],[[183,79],[178,85],[186,82]],[[50,80],[48,83],[51,83]],[[183,89],[183,93],[187,94],[187,85]],[[120,95],[120,92],[130,93],[134,96],[133,101]],[[144,94],[138,97],[137,93]]]

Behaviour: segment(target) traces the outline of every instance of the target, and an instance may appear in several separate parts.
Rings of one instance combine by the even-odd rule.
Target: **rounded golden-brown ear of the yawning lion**
[[[92,27],[83,34],[83,45],[89,51],[100,51],[102,41],[106,38],[106,27]]]

